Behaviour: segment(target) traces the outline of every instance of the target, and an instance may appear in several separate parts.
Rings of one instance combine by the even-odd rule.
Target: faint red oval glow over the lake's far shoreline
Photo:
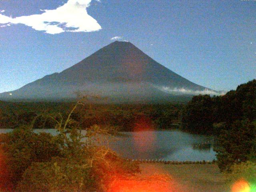
[[[133,140],[136,149],[139,152],[145,152],[148,148],[152,148],[154,146],[154,142],[156,140],[156,135],[153,132],[154,126],[151,123],[151,120],[145,117],[140,118],[138,122],[135,124],[133,134]],[[147,134],[136,133],[139,131],[150,131]]]

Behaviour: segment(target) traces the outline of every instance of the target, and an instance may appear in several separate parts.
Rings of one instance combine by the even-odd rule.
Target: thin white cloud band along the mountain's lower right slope
[[[224,95],[226,94],[226,92],[222,91],[222,92],[216,92],[214,90],[210,90],[210,89],[204,89],[204,90],[189,90],[189,89],[185,89],[185,88],[169,88],[166,86],[156,86],[158,89],[160,89],[161,91],[167,92],[167,93],[172,93],[172,94],[190,94],[190,95],[205,95],[205,94],[209,94],[209,95]]]

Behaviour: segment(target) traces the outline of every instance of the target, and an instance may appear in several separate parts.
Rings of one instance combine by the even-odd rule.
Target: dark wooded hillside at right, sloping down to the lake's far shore
[[[256,80],[223,96],[194,96],[182,112],[184,130],[200,134],[219,134],[238,120],[256,120]]]

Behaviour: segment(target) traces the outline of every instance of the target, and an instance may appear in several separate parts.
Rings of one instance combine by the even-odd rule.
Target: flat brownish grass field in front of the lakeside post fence
[[[143,175],[169,174],[179,192],[229,192],[216,164],[140,164]]]

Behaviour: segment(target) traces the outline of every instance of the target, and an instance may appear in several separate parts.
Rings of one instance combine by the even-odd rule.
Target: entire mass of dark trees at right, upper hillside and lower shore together
[[[194,96],[182,112],[182,127],[216,135],[217,163],[230,178],[256,175],[256,80],[224,96]]]

